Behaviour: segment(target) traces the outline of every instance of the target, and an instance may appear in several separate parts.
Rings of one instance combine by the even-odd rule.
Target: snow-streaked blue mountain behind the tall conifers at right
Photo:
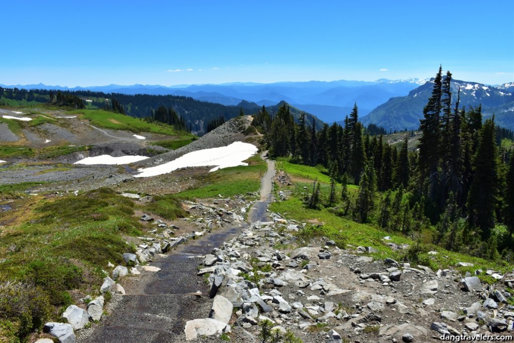
[[[407,96],[389,99],[362,119],[364,125],[374,123],[387,130],[415,130],[423,118],[423,108],[432,94],[433,80],[409,92]],[[451,89],[455,103],[461,89],[460,107],[482,104],[484,118],[495,115],[498,125],[514,130],[514,82],[498,86],[452,80]]]

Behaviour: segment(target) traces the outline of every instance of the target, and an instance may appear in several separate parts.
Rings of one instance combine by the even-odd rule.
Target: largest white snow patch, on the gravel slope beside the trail
[[[257,148],[249,143],[233,142],[221,148],[190,152],[160,166],[139,169],[135,177],[155,176],[171,173],[179,168],[215,166],[210,172],[236,166],[248,166],[243,161],[257,153]]]

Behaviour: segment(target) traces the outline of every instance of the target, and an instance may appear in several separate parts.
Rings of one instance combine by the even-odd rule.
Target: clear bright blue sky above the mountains
[[[514,81],[514,2],[6,1],[0,83]]]

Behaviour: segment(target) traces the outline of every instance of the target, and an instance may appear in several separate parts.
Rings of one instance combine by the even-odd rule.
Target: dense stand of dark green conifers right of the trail
[[[498,250],[514,255],[514,153],[500,147],[512,131],[498,128],[494,116],[484,121],[480,105],[461,108],[449,71],[440,67],[433,79],[420,134],[405,132],[390,143],[383,128],[364,130],[358,119],[355,104],[344,125],[316,127],[305,115],[295,123],[283,104],[273,117],[263,106],[253,125],[271,156],[331,177],[326,196],[315,182],[307,207],[336,206],[341,215],[405,234],[433,230],[434,244],[484,258]],[[411,137],[420,137],[417,145]]]

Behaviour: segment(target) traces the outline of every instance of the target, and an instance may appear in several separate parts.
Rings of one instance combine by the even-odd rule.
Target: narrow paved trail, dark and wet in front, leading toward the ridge
[[[261,156],[264,156],[263,153]],[[248,214],[251,222],[267,221],[267,205],[272,200],[274,162],[261,181],[261,200]],[[182,342],[186,321],[206,318],[212,305],[209,288],[196,276],[203,256],[241,232],[241,227],[213,231],[188,245],[180,245],[169,256],[152,265],[161,270],[142,275],[125,287],[112,314],[98,326],[78,337],[79,343],[171,343]],[[200,291],[203,296],[192,293]]]

